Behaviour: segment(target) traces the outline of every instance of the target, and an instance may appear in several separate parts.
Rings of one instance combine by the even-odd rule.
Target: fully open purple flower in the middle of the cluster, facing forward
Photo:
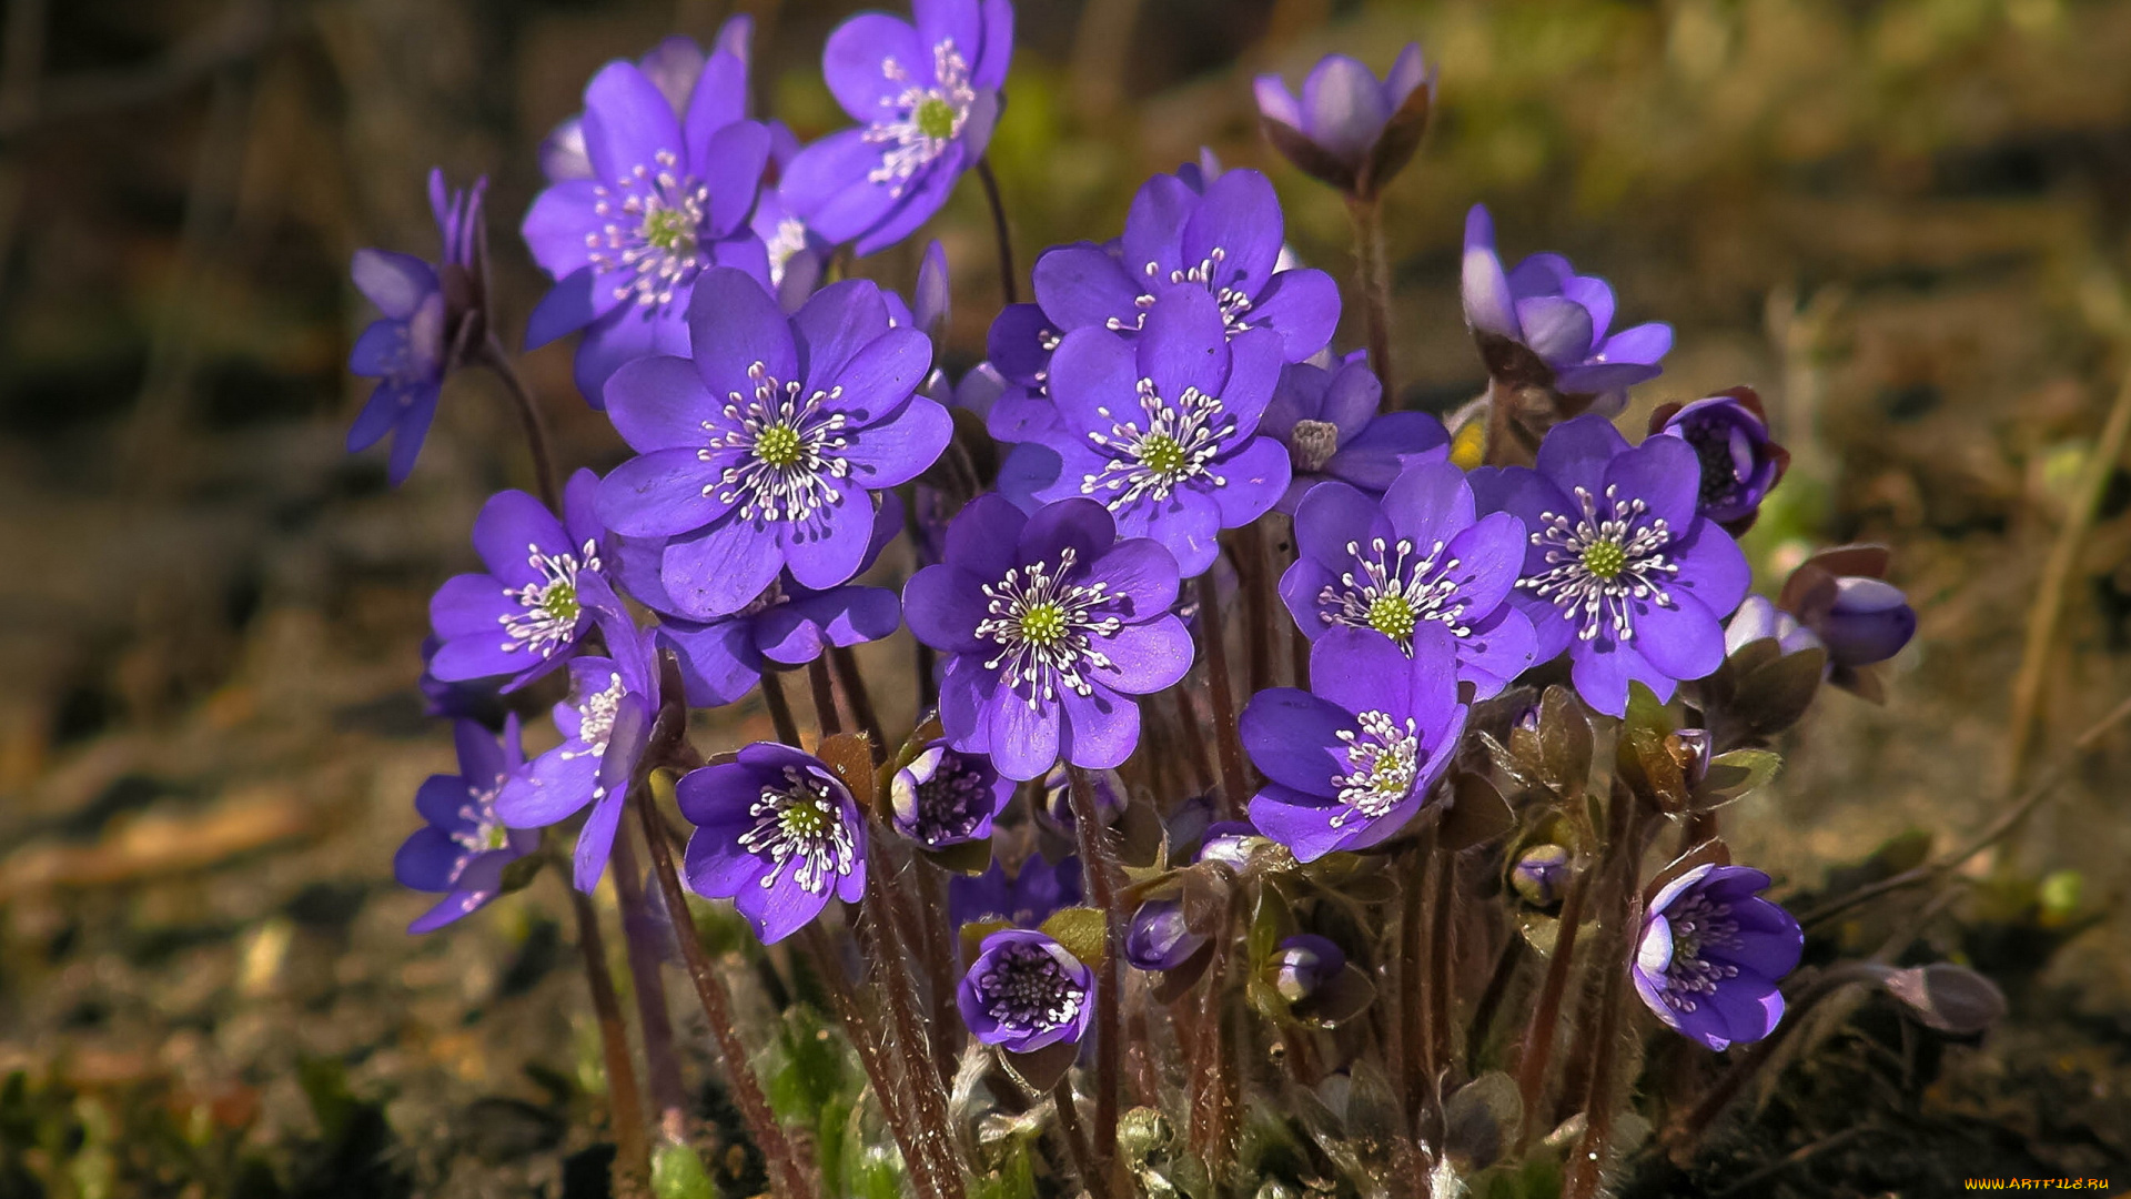
[[[946,561],[904,587],[916,638],[946,655],[940,721],[963,753],[1008,779],[1059,760],[1108,770],[1140,742],[1134,696],[1191,668],[1191,636],[1170,614],[1176,559],[1117,538],[1091,499],[1034,516],[980,495],[948,525]]]

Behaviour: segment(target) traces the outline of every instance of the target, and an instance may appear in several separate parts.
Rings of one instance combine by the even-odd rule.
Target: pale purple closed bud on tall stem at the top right
[[[1272,147],[1313,179],[1364,201],[1419,149],[1434,96],[1436,73],[1415,43],[1406,43],[1381,83],[1343,53],[1311,68],[1300,98],[1279,75],[1257,77],[1259,126]]]

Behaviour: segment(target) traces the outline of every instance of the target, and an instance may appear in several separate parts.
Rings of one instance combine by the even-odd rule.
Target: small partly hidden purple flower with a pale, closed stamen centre
[[[1276,508],[1289,516],[1302,495],[1325,480],[1338,480],[1383,495],[1398,471],[1451,457],[1451,435],[1426,412],[1377,412],[1383,384],[1357,350],[1325,369],[1289,363],[1272,403],[1259,416],[1259,433],[1287,446],[1291,476]]]

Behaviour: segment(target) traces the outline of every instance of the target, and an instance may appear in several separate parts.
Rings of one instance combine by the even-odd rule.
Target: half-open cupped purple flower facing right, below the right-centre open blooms
[[[1464,734],[1451,640],[1428,623],[1409,657],[1374,629],[1336,627],[1311,646],[1308,691],[1253,696],[1240,732],[1266,785],[1251,824],[1304,862],[1400,832]]]

